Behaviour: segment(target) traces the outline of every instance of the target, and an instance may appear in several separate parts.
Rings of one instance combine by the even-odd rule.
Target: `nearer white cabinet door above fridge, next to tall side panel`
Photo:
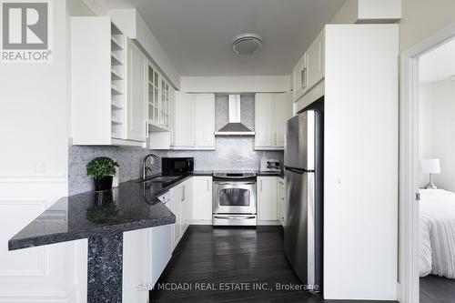
[[[324,32],[321,32],[307,51],[308,86],[306,90],[317,85],[324,77]]]

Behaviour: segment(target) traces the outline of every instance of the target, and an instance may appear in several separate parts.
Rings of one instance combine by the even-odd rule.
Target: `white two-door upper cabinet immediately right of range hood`
[[[291,93],[256,94],[255,149],[284,149],[286,123],[291,116]]]

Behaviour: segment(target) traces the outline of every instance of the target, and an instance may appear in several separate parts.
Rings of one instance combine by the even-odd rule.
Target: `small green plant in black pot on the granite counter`
[[[86,165],[87,176],[93,176],[96,191],[112,188],[112,177],[118,164],[110,157],[96,157]]]

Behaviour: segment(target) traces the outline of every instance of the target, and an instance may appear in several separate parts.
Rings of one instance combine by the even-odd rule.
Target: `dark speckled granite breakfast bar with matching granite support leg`
[[[129,181],[63,197],[8,242],[9,250],[88,239],[87,302],[122,302],[123,233],[176,222],[158,199],[192,175],[164,184]]]

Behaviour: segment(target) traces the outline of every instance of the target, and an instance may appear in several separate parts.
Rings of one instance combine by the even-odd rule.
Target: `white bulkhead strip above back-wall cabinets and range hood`
[[[290,76],[182,76],[187,93],[282,93],[290,91]]]

